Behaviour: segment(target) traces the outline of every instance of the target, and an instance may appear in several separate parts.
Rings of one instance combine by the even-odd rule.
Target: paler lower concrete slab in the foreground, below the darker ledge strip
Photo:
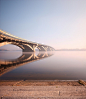
[[[1,99],[86,99],[86,86],[0,86]]]

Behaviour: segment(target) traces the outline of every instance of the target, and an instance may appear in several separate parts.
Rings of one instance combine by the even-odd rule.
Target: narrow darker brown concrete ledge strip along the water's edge
[[[84,81],[86,83],[86,81]],[[83,86],[78,80],[0,80],[0,86]]]

